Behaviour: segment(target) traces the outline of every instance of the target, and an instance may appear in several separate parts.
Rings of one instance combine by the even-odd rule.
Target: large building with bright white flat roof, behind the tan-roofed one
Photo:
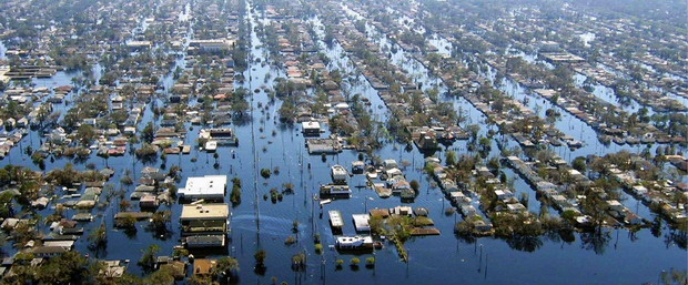
[[[186,185],[180,189],[180,199],[188,201],[224,201],[226,194],[226,175],[205,175],[202,177],[189,177]]]

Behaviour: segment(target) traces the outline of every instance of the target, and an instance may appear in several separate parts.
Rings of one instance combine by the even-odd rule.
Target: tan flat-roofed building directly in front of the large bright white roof
[[[225,203],[183,205],[180,223],[186,247],[225,246],[229,216],[230,205]]]

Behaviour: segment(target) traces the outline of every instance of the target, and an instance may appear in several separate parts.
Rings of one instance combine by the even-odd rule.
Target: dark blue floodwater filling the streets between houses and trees
[[[247,9],[251,11],[251,9]],[[184,16],[186,17],[186,16]],[[191,17],[191,16],[190,16]],[[260,18],[259,12],[250,14],[250,21],[255,22]],[[442,42],[441,39],[437,39]],[[261,40],[255,32],[251,35],[251,57],[262,58],[266,54],[266,50],[261,47]],[[381,43],[385,44],[385,43]],[[326,49],[325,52],[334,61],[331,69],[342,69],[347,72],[353,70],[353,64],[347,61],[344,51],[335,44],[333,48],[326,48],[321,42],[321,48]],[[447,45],[447,43],[437,44],[438,47]],[[399,55],[395,55],[394,62],[403,64],[404,69],[415,70],[417,74],[426,74],[422,67],[413,64],[406,58],[403,58],[403,51],[399,49]],[[263,61],[263,60],[262,60]],[[261,61],[261,62],[262,62]],[[243,86],[253,91],[254,89],[272,83],[273,79],[283,74],[283,71],[275,70],[270,65],[263,65],[261,62],[251,61],[249,71],[244,73],[249,79]],[[181,64],[183,67],[183,64]],[[270,73],[271,79],[265,82],[265,74]],[[49,80],[34,81],[39,85],[54,86],[68,84],[73,74],[59,72],[58,75]],[[423,80],[433,80],[427,75],[418,75]],[[366,80],[352,81],[348,86],[354,93],[361,93],[368,98],[372,102],[372,111],[375,112],[377,120],[386,119],[387,110],[377,96],[374,89],[370,86]],[[237,84],[242,85],[242,84]],[[514,95],[518,100],[523,100],[527,94],[520,86],[513,82],[504,82],[502,84],[507,93]],[[484,120],[483,115],[463,99],[445,99],[452,100],[458,111],[461,106],[463,112],[469,115],[474,123]],[[68,98],[68,101],[71,101]],[[530,106],[540,105],[540,113],[547,108],[556,108],[549,105],[542,99],[530,100]],[[161,104],[162,101],[156,101]],[[662,233],[655,237],[648,228],[640,230],[631,235],[627,230],[605,230],[599,236],[590,236],[587,234],[574,234],[574,240],[564,241],[557,236],[542,236],[525,241],[505,241],[499,238],[484,237],[475,242],[467,242],[457,238],[453,234],[453,225],[461,221],[457,215],[445,215],[445,208],[451,204],[446,201],[439,189],[433,187],[427,175],[423,174],[424,155],[417,150],[406,151],[405,145],[389,143],[376,154],[383,159],[395,159],[397,162],[408,161],[409,166],[403,169],[408,180],[417,180],[421,183],[419,195],[411,206],[423,206],[429,210],[429,217],[435,222],[435,227],[442,231],[438,236],[412,237],[406,242],[409,253],[409,262],[399,261],[394,245],[385,243],[383,250],[373,254],[358,256],[362,259],[362,266],[353,269],[348,266],[348,261],[354,257],[350,254],[340,254],[330,250],[328,245],[334,244],[334,235],[330,231],[327,221],[328,210],[340,210],[344,218],[344,233],[354,234],[351,214],[364,213],[374,207],[394,207],[402,202],[398,196],[388,199],[380,199],[374,191],[367,187],[355,187],[365,185],[363,176],[356,175],[351,177],[350,185],[354,190],[354,194],[348,200],[335,200],[323,208],[317,206],[317,201],[313,196],[317,194],[318,185],[330,182],[330,166],[341,164],[345,167],[351,162],[357,160],[358,153],[354,151],[344,151],[336,155],[327,155],[324,159],[320,155],[308,155],[304,145],[304,138],[297,126],[286,126],[276,120],[276,110],[280,103],[270,103],[267,94],[261,89],[257,93],[252,93],[250,104],[253,111],[250,113],[250,120],[233,124],[236,130],[240,144],[235,147],[220,147],[217,150],[217,159],[212,154],[201,152],[194,149],[189,155],[169,155],[165,167],[180,165],[182,167],[182,179],[178,186],[183,187],[185,177],[199,176],[206,174],[224,174],[231,180],[240,177],[242,180],[242,202],[232,207],[230,245],[226,251],[217,251],[211,254],[213,257],[231,255],[239,259],[240,283],[241,284],[267,284],[272,276],[277,279],[286,281],[292,284],[643,284],[646,282],[655,282],[662,271],[670,268],[686,269],[686,251],[679,248],[668,238],[670,231],[665,226]],[[263,105],[261,111],[257,106]],[[266,106],[266,108],[265,108]],[[380,106],[380,108],[377,108]],[[64,106],[62,106],[64,108]],[[67,106],[69,108],[69,106]],[[616,152],[626,146],[600,146],[595,143],[593,130],[577,119],[561,112],[563,118],[557,122],[557,126],[567,134],[576,139],[583,139],[586,145],[577,151],[569,151],[564,147],[556,150],[563,157],[570,161],[579,155],[587,154],[605,154]],[[270,115],[270,118],[267,118]],[[154,121],[151,108],[145,109],[141,125]],[[191,129],[190,125],[186,125]],[[185,144],[195,145],[198,138],[198,126],[188,133]],[[274,131],[274,134],[273,134]],[[483,130],[482,132],[485,132]],[[325,133],[326,135],[328,133]],[[10,155],[0,161],[0,166],[7,164],[20,164],[38,170],[22,151],[31,145],[38,149],[41,138],[38,133],[31,132],[21,143],[13,147]],[[464,153],[465,142],[456,142],[449,146]],[[629,147],[634,150],[634,147]],[[493,154],[497,154],[496,145],[493,145]],[[439,151],[436,155],[444,159],[445,151]],[[195,160],[195,162],[192,162]],[[214,167],[215,162],[219,167]],[[47,160],[47,170],[64,167],[67,163],[74,163],[68,159],[57,159],[54,162]],[[83,163],[75,163],[79,170],[85,169],[85,165],[93,163],[97,169],[102,169],[105,164],[113,167],[117,173],[110,183],[115,189],[125,187],[119,184],[120,179],[124,175],[124,170],[130,170],[134,176],[134,181],[141,176],[140,171],[146,166],[161,167],[162,161],[145,164],[138,161],[133,155],[112,156],[108,161],[92,154],[91,157]],[[279,174],[273,174],[270,179],[263,179],[259,175],[261,169],[279,169]],[[510,170],[505,170],[509,176],[517,177]],[[685,176],[684,176],[685,180]],[[270,200],[263,200],[263,195],[269,193],[271,189],[282,190],[284,183],[293,183],[295,191],[293,194],[284,195],[283,201],[272,203]],[[528,193],[530,211],[538,212],[539,203],[535,199],[535,192],[523,180],[516,179],[515,186],[519,193]],[[231,187],[231,185],[230,185]],[[128,187],[128,195],[133,191],[133,186]],[[631,210],[635,210],[635,200],[626,202]],[[53,201],[51,205],[57,202]],[[229,197],[227,197],[229,202]],[[162,248],[160,255],[171,255],[172,247],[179,244],[180,227],[179,214],[181,206],[174,204],[171,206],[161,206],[173,212],[172,233],[168,236],[154,236],[153,233],[145,230],[145,223],[138,224],[138,232],[133,236],[128,236],[124,232],[113,230],[112,216],[118,211],[117,202],[113,206],[107,208],[93,210],[97,215],[91,223],[81,223],[80,226],[89,228],[97,227],[101,222],[105,223],[109,228],[109,243],[104,253],[99,253],[100,258],[108,259],[131,259],[129,267],[134,274],[141,273],[135,265],[135,261],[141,256],[141,251],[145,250],[150,244],[159,244]],[[644,205],[639,205],[638,213],[648,220],[654,218],[654,214],[649,213]],[[553,210],[550,210],[554,212]],[[52,213],[48,208],[40,212],[43,215]],[[74,210],[69,210],[67,216],[74,214]],[[321,214],[322,213],[322,214]],[[299,232],[292,232],[293,222],[299,223]],[[47,231],[45,228],[42,228]],[[314,250],[313,236],[321,235],[325,247],[322,255]],[[284,241],[289,236],[297,240],[296,244],[285,245]],[[14,250],[6,246],[7,253]],[[266,272],[264,275],[256,275],[253,272],[254,257],[253,254],[257,250],[265,250],[267,257],[265,261]],[[88,241],[84,237],[77,242],[77,250],[88,253]],[[307,266],[305,272],[294,272],[291,268],[291,256],[297,253],[307,254]],[[91,253],[94,256],[95,253]],[[365,258],[374,256],[376,265],[374,268],[367,268]],[[344,266],[337,269],[336,259],[343,259]]]

